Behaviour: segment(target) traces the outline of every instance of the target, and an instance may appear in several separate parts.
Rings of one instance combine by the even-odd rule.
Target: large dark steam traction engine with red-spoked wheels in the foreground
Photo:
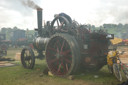
[[[42,9],[37,9],[37,18],[39,36],[34,39],[33,46],[39,54],[37,57],[46,57],[52,74],[66,76],[82,69],[99,70],[106,64],[111,35],[102,30],[90,32],[85,25],[64,16],[55,17],[42,28]],[[24,48],[22,65],[32,69],[35,57],[31,48]]]

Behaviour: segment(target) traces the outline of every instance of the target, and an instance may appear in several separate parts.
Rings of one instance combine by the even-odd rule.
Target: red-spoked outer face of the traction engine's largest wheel
[[[46,49],[46,60],[54,75],[67,75],[72,69],[73,55],[69,43],[62,37],[51,40]]]

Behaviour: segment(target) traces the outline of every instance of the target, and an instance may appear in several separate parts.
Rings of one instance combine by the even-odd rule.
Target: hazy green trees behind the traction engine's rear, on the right
[[[108,33],[114,34],[115,37],[128,39],[128,24],[103,24],[99,27],[88,24],[88,27],[91,28],[91,30],[103,29]]]

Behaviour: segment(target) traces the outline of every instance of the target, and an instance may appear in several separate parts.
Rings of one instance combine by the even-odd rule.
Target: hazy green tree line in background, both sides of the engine
[[[122,38],[122,39],[128,39],[128,24],[121,24],[121,23],[103,24],[102,26],[98,26],[98,27],[96,27],[95,25],[87,24],[87,27],[90,28],[92,31],[103,29],[110,34],[114,34],[115,37]],[[3,27],[1,28],[0,33],[6,34],[6,39],[10,40],[15,30],[21,30],[21,29],[16,26],[13,28]],[[26,32],[26,34],[34,35],[35,33],[35,30],[26,29],[24,31]]]

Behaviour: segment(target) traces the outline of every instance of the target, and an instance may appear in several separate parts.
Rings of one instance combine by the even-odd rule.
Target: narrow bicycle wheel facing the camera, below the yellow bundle
[[[114,63],[113,64],[113,72],[114,72],[114,75],[116,76],[116,78],[119,80],[119,81],[122,81],[122,75],[121,75],[121,72],[119,70],[119,66],[117,63]]]

